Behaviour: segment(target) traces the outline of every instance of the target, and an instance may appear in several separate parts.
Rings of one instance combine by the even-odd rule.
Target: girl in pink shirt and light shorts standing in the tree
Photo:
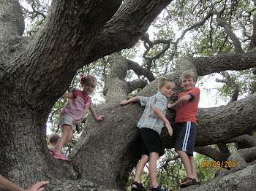
[[[97,85],[97,79],[92,75],[87,75],[86,77],[81,78],[80,84],[82,90],[74,88],[71,92],[64,93],[64,95],[61,96],[61,98],[69,98],[69,101],[59,115],[61,138],[56,144],[56,147],[50,149],[50,153],[57,159],[68,160],[67,156],[61,153],[61,149],[69,141],[72,141],[76,125],[83,120],[88,109],[94,120],[100,121],[104,119],[103,115],[97,117],[97,114],[94,111],[94,106],[91,104],[91,98],[89,97],[89,95],[94,92]]]

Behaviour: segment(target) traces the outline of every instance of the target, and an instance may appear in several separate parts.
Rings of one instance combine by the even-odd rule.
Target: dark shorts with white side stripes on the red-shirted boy
[[[195,122],[177,122],[176,135],[175,150],[181,150],[187,152],[187,155],[193,156],[197,135],[197,125],[195,125]]]

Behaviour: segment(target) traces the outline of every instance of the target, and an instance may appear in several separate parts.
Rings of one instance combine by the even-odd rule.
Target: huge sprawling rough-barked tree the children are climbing
[[[246,3],[54,1],[42,27],[34,36],[27,38],[21,36],[23,19],[18,1],[1,1],[0,173],[23,187],[42,179],[50,179],[47,190],[124,189],[129,171],[136,163],[132,157],[132,147],[138,136],[136,124],[143,108],[139,104],[120,107],[118,103],[137,88],[143,88],[137,95],[150,96],[156,93],[156,78],[165,74],[165,71],[168,73],[166,77],[175,79],[178,86],[178,77],[186,69],[193,69],[198,76],[205,76],[219,71],[241,71],[255,67],[255,9],[251,1]],[[145,32],[165,7],[166,11],[171,7],[182,7],[191,13],[189,17],[185,17],[188,14],[173,14],[184,17],[183,23],[189,27],[178,39],[173,35],[171,38],[151,42]],[[249,15],[246,19],[241,19],[247,36],[244,41],[233,32],[236,25],[231,25],[231,21],[236,20],[233,17],[241,13],[237,11],[238,8],[243,8],[241,12],[245,16]],[[190,17],[196,18],[196,22],[188,23]],[[170,19],[175,20],[172,17]],[[216,24],[215,29],[213,23]],[[197,40],[203,46],[198,45],[197,49],[206,50],[204,46],[208,45],[212,49],[206,51],[208,57],[203,57],[200,53],[189,58],[184,58],[180,53],[178,57],[178,45],[184,34],[192,29],[200,31],[200,28],[206,26],[213,30],[202,29],[209,38]],[[223,31],[218,31],[219,28]],[[149,54],[154,44],[164,44],[157,54],[145,53],[145,63],[141,66],[118,52],[132,47],[138,39],[143,40]],[[215,49],[214,46],[211,47],[213,39],[220,44],[215,44]],[[249,44],[250,47],[245,49],[241,42],[247,42],[246,45]],[[230,47],[230,52],[219,51],[223,47]],[[157,58],[167,55],[167,50],[172,52],[166,61],[182,58],[176,61],[175,69],[164,63],[164,60],[158,63],[161,59]],[[48,114],[53,104],[68,89],[78,69],[105,55],[109,55],[110,64],[103,90],[106,103],[100,105],[97,112],[105,114],[106,118],[104,122],[94,122],[88,117],[86,128],[69,155],[71,162],[55,160],[50,156],[45,141]],[[125,79],[129,69],[140,78],[127,82]],[[175,72],[169,73],[172,69]],[[148,85],[147,81],[150,82]],[[178,86],[172,101],[176,100],[181,91]],[[237,190],[252,189],[253,185],[247,182],[255,179],[252,172],[256,166],[250,163],[255,159],[255,144],[252,136],[247,133],[255,130],[252,125],[255,121],[255,104],[252,104],[255,103],[255,96],[254,93],[227,106],[199,110],[197,121],[200,126],[196,146],[200,147],[200,153],[215,154],[211,155],[214,160],[238,161],[241,168],[219,173],[217,179],[200,187],[189,187],[189,190],[211,190],[219,187],[225,190],[230,187]],[[174,112],[168,112],[167,117],[173,121]],[[167,130],[163,130],[162,137],[165,146],[172,148],[174,140],[167,136]],[[227,142],[240,144],[238,152],[230,155],[225,145]],[[217,144],[219,151],[207,147],[211,144]],[[241,145],[243,148],[250,148],[240,149]]]

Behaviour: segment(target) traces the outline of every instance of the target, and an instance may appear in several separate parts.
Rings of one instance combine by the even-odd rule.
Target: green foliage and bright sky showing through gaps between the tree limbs
[[[47,17],[48,7],[50,0],[20,0],[20,2],[26,3],[23,5],[23,15],[26,18],[26,36],[33,36],[42,22]],[[138,59],[143,55],[142,42],[139,41],[129,50],[122,50],[124,58],[137,61],[140,66],[144,68],[150,68],[154,77],[162,77],[163,75],[175,71],[175,61],[179,58],[192,57],[192,56],[211,56],[218,54],[225,54],[234,52],[234,44],[225,29],[219,26],[217,22],[217,15],[227,24],[230,25],[230,29],[240,39],[241,47],[244,51],[248,51],[249,38],[242,31],[246,31],[246,34],[252,34],[252,17],[254,9],[252,1],[233,1],[233,0],[203,0],[203,1],[172,1],[161,15],[157,17],[152,23],[148,33],[152,42],[157,39],[172,39],[170,47],[159,58],[155,59],[151,63],[148,63],[146,59]],[[206,15],[211,12],[215,12],[204,23],[200,23]],[[218,14],[216,14],[218,12]],[[197,24],[197,25],[196,25]],[[196,26],[195,26],[196,25]],[[187,31],[187,29],[190,30]],[[148,58],[154,58],[161,50],[165,48],[166,44],[155,44],[151,47],[151,50],[146,54]],[[102,95],[102,89],[104,82],[108,74],[110,73],[110,64],[108,63],[108,57],[101,58],[98,61],[90,63],[87,66],[79,69],[77,75],[71,82],[69,90],[72,88],[80,89],[80,77],[82,74],[93,74],[97,77],[97,89],[94,91],[93,97],[94,106],[105,102]],[[208,77],[213,76],[209,75]],[[238,84],[240,96],[244,98],[252,90],[252,85],[255,83],[255,75],[252,75],[251,70],[236,71],[230,74],[231,79]],[[129,81],[135,78],[133,71],[129,71],[126,80]],[[140,77],[143,78],[143,77]],[[203,77],[198,77],[198,85],[203,86]],[[207,86],[208,87],[208,86]],[[135,95],[140,89],[135,90],[129,95]],[[228,101],[233,95],[233,90],[227,85],[219,88],[219,98]],[[61,133],[61,129],[58,127],[59,113],[63,106],[67,104],[67,99],[59,99],[53,106],[48,119],[48,127],[50,131],[54,133]],[[83,125],[82,125],[83,126]],[[83,127],[82,127],[83,129]],[[75,133],[72,143],[69,143],[67,147],[64,147],[66,153],[70,152],[70,149],[74,147],[78,141],[80,133]],[[217,149],[216,146],[212,146]],[[233,145],[230,146],[230,151],[236,150]],[[186,172],[184,166],[181,165],[181,160],[171,160],[165,165],[165,162],[173,157],[176,157],[176,152],[173,149],[167,149],[165,155],[159,159],[157,169],[157,181],[159,184],[163,184],[173,190],[178,190],[178,185],[181,179],[184,179]],[[197,154],[195,156],[195,162],[197,165],[197,175],[201,183],[214,177],[217,168],[203,168],[202,161],[211,162],[211,158],[204,155]],[[130,184],[134,180],[135,171],[130,173],[129,181],[127,183],[127,190],[130,190]],[[141,176],[141,182],[146,187],[149,187],[148,169],[145,168]]]

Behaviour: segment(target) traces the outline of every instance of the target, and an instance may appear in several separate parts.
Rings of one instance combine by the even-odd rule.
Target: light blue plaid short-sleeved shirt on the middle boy
[[[154,107],[158,107],[163,114],[166,114],[167,98],[158,91],[157,94],[152,95],[151,97],[140,96],[140,104],[141,106],[146,107],[138,122],[138,128],[151,128],[160,134],[164,122],[154,113]]]

